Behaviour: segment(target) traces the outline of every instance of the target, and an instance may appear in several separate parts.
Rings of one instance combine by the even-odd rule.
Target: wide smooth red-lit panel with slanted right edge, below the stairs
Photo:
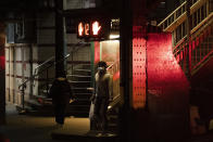
[[[148,34],[147,60],[150,111],[186,113],[189,82],[173,55],[171,34]]]

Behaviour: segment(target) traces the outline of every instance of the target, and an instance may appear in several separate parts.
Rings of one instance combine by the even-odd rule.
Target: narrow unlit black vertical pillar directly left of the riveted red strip
[[[120,77],[121,77],[121,96],[122,96],[122,106],[120,108],[120,141],[124,142],[130,141],[129,133],[129,111],[130,111],[130,56],[131,56],[131,2],[129,0],[122,0],[121,7],[121,28],[120,28]]]

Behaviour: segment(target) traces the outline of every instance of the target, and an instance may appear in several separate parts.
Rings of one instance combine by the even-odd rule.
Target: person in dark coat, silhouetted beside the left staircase
[[[52,87],[50,88],[50,96],[52,98],[54,107],[55,122],[63,126],[70,100],[74,99],[65,73],[54,79]]]

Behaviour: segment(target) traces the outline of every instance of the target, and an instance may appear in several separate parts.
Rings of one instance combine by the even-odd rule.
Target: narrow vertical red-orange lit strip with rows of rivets
[[[138,28],[138,27],[136,27]],[[133,107],[146,105],[146,40],[137,30],[133,39]]]

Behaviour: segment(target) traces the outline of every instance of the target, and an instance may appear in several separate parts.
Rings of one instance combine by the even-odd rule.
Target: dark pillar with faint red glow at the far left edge
[[[5,124],[5,25],[0,23],[0,125]]]

